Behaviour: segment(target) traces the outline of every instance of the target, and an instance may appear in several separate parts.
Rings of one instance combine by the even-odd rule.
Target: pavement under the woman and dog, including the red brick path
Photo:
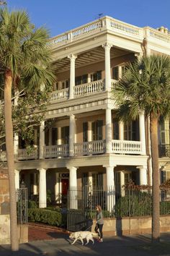
[[[161,234],[160,244],[151,244],[151,234],[104,236],[104,242],[82,246],[71,245],[68,232],[43,226],[30,226],[29,242],[20,244],[18,252],[11,252],[9,245],[0,246],[0,256],[170,256],[170,232]]]

